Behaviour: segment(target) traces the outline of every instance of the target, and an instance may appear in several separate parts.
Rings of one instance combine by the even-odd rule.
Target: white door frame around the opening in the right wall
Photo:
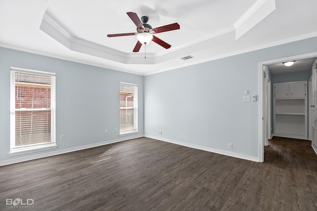
[[[259,162],[264,162],[264,65],[280,63],[286,60],[317,57],[317,52],[259,62]]]

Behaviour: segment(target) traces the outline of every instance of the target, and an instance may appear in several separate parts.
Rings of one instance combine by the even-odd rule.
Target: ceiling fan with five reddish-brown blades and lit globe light
[[[160,40],[158,37],[154,36],[154,34],[180,29],[180,26],[178,23],[172,23],[166,26],[161,26],[161,27],[157,27],[153,29],[151,25],[147,24],[149,20],[148,16],[142,16],[140,20],[138,15],[134,12],[127,12],[127,14],[131,18],[133,23],[137,26],[137,32],[124,33],[124,34],[112,34],[112,35],[107,35],[107,37],[111,38],[111,37],[136,35],[138,42],[135,45],[133,52],[139,52],[142,44],[148,44],[151,41],[158,43],[160,46],[164,47],[165,49],[168,49],[171,47],[171,45]]]

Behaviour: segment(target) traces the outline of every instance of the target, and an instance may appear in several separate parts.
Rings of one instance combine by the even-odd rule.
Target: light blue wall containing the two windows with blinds
[[[10,67],[56,73],[56,149],[8,157]],[[115,132],[119,128],[120,82],[138,84],[138,134],[143,135],[143,76],[0,47],[0,161],[125,138]],[[61,134],[65,140],[59,140]]]

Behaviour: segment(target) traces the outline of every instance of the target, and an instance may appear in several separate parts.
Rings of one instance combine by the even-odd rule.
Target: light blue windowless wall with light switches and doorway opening
[[[316,51],[315,37],[146,76],[145,134],[259,157],[259,101],[243,102],[259,62]]]

